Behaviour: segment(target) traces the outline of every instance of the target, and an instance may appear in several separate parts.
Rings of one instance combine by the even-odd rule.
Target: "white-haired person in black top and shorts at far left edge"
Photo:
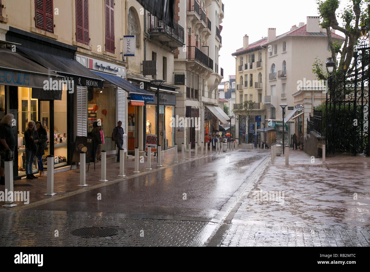
[[[5,159],[14,162],[14,148],[16,147],[16,138],[11,129],[11,122],[14,119],[13,114],[6,114],[0,122],[0,184],[5,184]]]

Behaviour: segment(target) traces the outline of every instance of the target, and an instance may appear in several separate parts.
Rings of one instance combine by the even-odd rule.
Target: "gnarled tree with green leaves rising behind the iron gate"
[[[363,29],[370,25],[369,20],[369,3],[370,0],[351,0],[351,4],[347,5],[343,11],[338,11],[339,0],[318,0],[318,11],[320,14],[320,25],[326,29],[327,39],[332,53],[332,60],[335,63],[333,78],[341,75],[352,75],[354,73],[355,64],[353,62],[354,52],[356,52],[359,36],[367,34]],[[339,26],[337,17],[343,20],[343,26]],[[343,46],[337,41],[333,43],[330,27],[344,33]],[[361,32],[362,30],[362,32]],[[367,29],[369,31],[369,29]],[[369,52],[367,52],[369,57]],[[336,61],[337,60],[337,61]],[[364,58],[364,61],[366,57]],[[316,58],[313,64],[313,73],[320,80],[327,80],[328,74],[322,61]],[[366,71],[363,71],[366,73]]]

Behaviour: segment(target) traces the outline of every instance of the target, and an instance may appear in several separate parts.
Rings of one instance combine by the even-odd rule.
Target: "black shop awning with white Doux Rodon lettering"
[[[76,60],[55,56],[52,54],[30,50],[17,46],[17,51],[27,55],[38,64],[47,69],[60,74],[64,80],[73,80],[74,85],[92,88],[103,88],[104,80],[90,71],[88,68],[78,63]]]

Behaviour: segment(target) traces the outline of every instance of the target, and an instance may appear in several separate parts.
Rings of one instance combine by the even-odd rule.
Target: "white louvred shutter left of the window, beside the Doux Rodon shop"
[[[87,87],[77,86],[77,136],[87,136]]]

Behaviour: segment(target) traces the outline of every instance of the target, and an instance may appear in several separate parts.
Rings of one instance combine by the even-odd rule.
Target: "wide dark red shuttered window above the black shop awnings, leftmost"
[[[35,0],[36,27],[54,33],[53,0]]]

